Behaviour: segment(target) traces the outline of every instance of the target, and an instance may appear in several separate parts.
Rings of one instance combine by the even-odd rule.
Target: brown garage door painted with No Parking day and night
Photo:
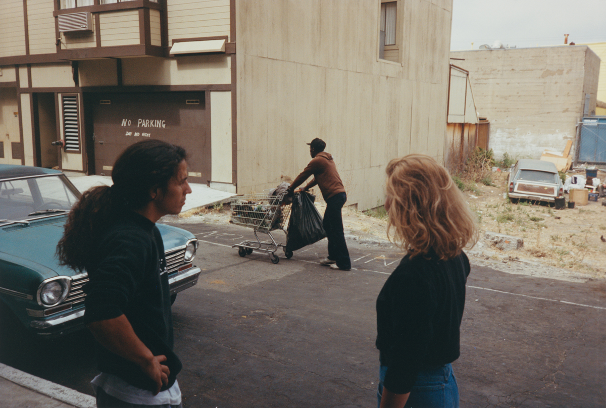
[[[161,139],[187,150],[191,182],[210,180],[210,119],[204,92],[104,93],[91,95],[95,173],[112,175],[127,146]]]

